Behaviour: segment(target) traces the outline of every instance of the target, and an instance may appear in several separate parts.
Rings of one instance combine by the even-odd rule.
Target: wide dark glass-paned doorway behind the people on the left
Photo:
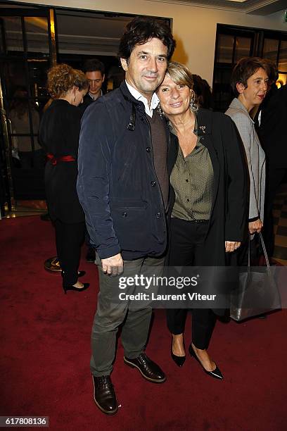
[[[19,4],[18,4],[19,5]],[[82,69],[88,58],[106,66],[104,90],[124,77],[117,48],[134,15],[44,6],[0,5],[0,205],[18,211],[21,201],[45,199],[44,154],[37,141],[49,100],[46,73],[68,63]],[[171,25],[168,18],[159,18]]]

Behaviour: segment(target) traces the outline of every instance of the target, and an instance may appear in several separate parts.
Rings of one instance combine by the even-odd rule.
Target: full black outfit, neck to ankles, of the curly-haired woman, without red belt
[[[46,154],[57,162],[47,161],[45,168],[46,200],[56,227],[56,246],[63,270],[63,285],[77,282],[80,247],[84,239],[84,211],[77,196],[77,151],[81,111],[68,101],[57,99],[45,111],[39,141]],[[59,161],[71,156],[75,161]]]

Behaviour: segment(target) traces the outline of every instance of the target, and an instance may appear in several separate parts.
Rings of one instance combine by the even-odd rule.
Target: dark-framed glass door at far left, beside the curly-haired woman
[[[47,8],[0,9],[1,213],[18,201],[45,199],[44,154],[37,135],[48,99],[46,71],[52,63]]]

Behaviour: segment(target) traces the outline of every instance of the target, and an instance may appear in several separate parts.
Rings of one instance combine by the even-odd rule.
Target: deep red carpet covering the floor
[[[91,287],[64,295],[60,275],[43,268],[56,254],[50,223],[39,216],[1,220],[0,237],[0,416],[49,416],[51,430],[286,430],[286,310],[217,323],[210,353],[223,381],[190,357],[175,366],[165,313],[155,311],[146,352],[167,382],[153,385],[125,366],[119,342],[112,377],[121,407],[107,417],[94,404],[89,373],[96,267],[82,259]]]

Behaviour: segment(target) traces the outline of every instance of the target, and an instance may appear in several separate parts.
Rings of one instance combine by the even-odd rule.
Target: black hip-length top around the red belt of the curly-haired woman
[[[57,99],[45,111],[40,127],[39,141],[46,153],[55,157],[72,156],[75,161],[45,168],[46,200],[52,220],[64,223],[84,221],[84,211],[77,196],[77,152],[81,111],[68,101]]]

